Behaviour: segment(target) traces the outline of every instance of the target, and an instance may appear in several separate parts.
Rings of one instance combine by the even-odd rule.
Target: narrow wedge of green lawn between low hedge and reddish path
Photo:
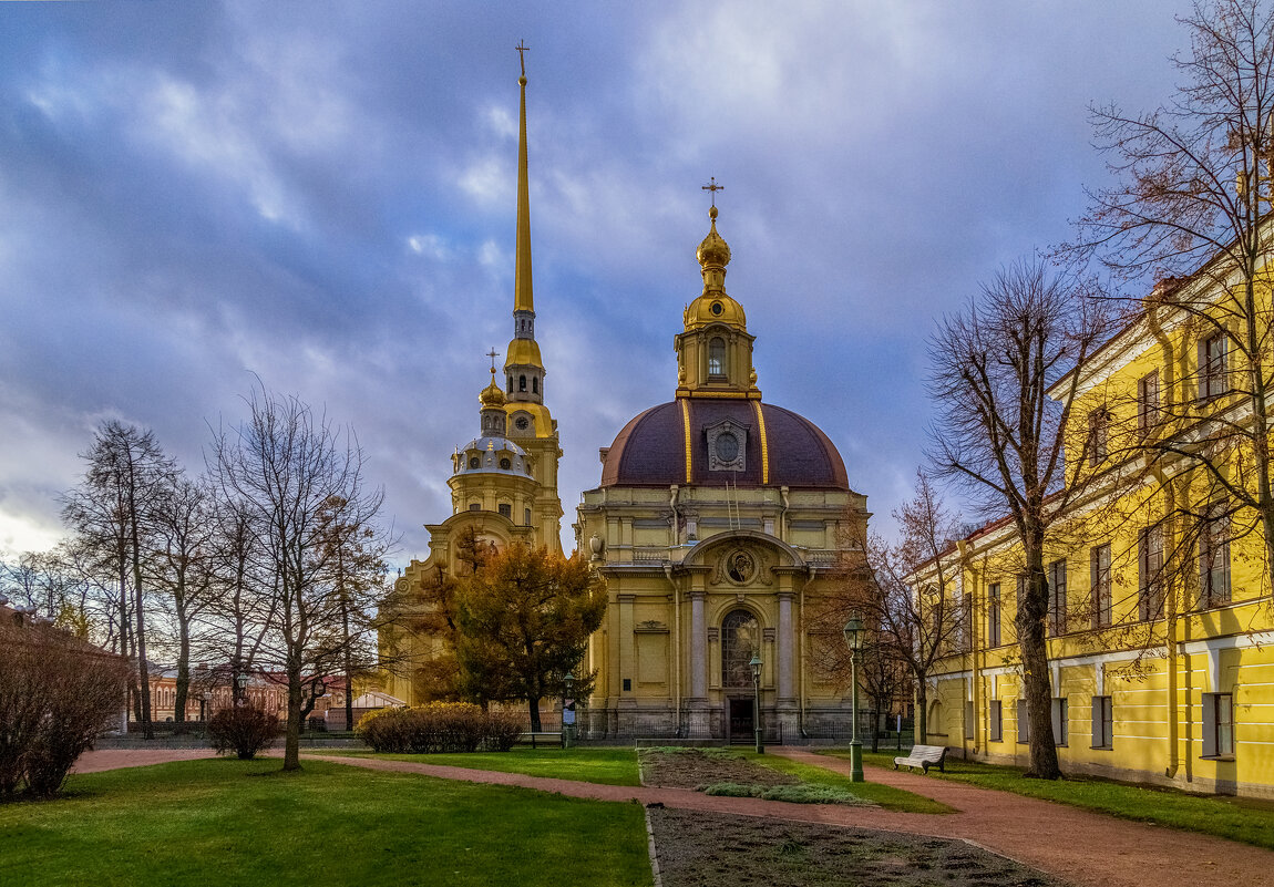
[[[318,752],[315,752],[318,753]],[[322,752],[330,755],[334,752]],[[507,752],[473,752],[455,755],[378,755],[369,751],[347,751],[343,755],[377,757],[386,761],[441,764],[469,770],[498,770],[526,776],[573,779],[601,785],[641,785],[637,774],[637,752],[632,748],[592,747],[559,748],[516,746]]]

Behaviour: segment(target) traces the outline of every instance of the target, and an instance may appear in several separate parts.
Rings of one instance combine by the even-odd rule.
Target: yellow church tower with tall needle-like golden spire
[[[517,149],[517,251],[513,286],[513,337],[505,354],[503,386],[490,355],[490,384],[479,395],[478,435],[457,447],[452,458],[451,517],[427,524],[429,555],[413,560],[395,583],[396,627],[382,640],[397,664],[385,690],[409,704],[429,697],[420,666],[441,652],[438,636],[403,629],[419,615],[429,583],[438,571],[456,575],[457,543],[468,531],[505,547],[521,542],[561,551],[562,500],[558,498],[557,420],[544,405],[544,361],[535,341],[535,299],[531,284],[531,216],[526,168],[526,75],[519,78],[521,111]],[[391,636],[391,638],[390,638]]]

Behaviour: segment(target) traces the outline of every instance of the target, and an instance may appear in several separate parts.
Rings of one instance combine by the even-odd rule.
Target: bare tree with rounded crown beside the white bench
[[[1061,775],[1045,640],[1045,542],[1091,472],[1099,470],[1088,464],[1088,448],[1097,439],[1071,434],[1071,407],[1082,369],[1110,330],[1106,304],[1075,279],[1051,276],[1038,262],[1019,262],[984,285],[962,314],[944,318],[930,342],[930,393],[939,411],[930,458],[985,514],[1008,512],[1022,542],[1017,630],[1029,774],[1041,779]],[[1069,459],[1068,442],[1079,443]]]

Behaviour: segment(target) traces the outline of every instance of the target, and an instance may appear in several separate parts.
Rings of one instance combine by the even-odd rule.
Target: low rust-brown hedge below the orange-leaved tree
[[[511,711],[483,711],[469,702],[429,702],[369,711],[354,732],[377,752],[437,755],[508,751],[522,732]]]

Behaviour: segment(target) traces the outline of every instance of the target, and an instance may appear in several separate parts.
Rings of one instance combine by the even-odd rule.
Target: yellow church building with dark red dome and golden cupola
[[[713,206],[697,252],[703,290],[674,339],[675,397],[601,449],[601,484],[578,508],[576,543],[609,593],[586,662],[594,738],[750,737],[754,655],[767,741],[848,723],[845,685],[813,664],[828,639],[812,616],[846,540],[864,537],[866,498],[827,435],[762,402]]]

